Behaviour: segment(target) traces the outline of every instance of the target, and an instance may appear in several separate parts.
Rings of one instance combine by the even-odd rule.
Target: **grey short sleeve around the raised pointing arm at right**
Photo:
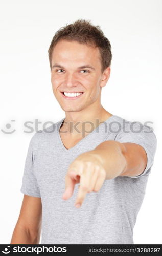
[[[117,134],[115,140],[121,143],[131,142],[141,145],[147,154],[147,166],[143,173],[138,176],[129,177],[138,178],[145,174],[149,174],[154,162],[154,156],[157,147],[157,139],[152,130],[152,127],[143,125],[140,122],[127,121],[125,124],[125,129],[123,127],[121,130],[122,131]]]

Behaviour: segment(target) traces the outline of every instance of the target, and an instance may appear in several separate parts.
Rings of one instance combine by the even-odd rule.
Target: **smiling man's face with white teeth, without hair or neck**
[[[98,48],[61,40],[54,47],[51,66],[53,93],[65,112],[78,112],[100,102],[103,74]]]

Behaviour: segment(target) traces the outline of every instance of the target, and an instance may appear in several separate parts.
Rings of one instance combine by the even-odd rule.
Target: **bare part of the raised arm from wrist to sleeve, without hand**
[[[106,170],[106,179],[134,177],[143,173],[147,166],[146,151],[136,143],[104,141],[95,148],[94,154],[100,158]]]

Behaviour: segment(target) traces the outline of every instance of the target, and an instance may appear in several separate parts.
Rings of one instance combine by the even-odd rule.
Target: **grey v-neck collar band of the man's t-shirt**
[[[88,139],[92,134],[95,134],[97,132],[97,129],[101,129],[101,126],[104,125],[104,123],[108,123],[110,122],[114,117],[117,117],[116,115],[112,115],[110,116],[109,118],[107,118],[104,122],[100,123],[98,125],[98,127],[96,127],[91,133],[89,133],[88,135],[86,135],[84,138],[82,138],[75,146],[71,147],[71,148],[66,148],[61,140],[61,136],[60,136],[60,126],[61,124],[63,123],[63,121],[65,120],[65,117],[62,118],[58,124],[57,124],[57,137],[58,137],[58,140],[59,140],[59,143],[60,143],[60,146],[62,147],[62,150],[64,150],[65,152],[71,152],[73,150],[76,150],[76,147],[78,147],[81,143],[83,143],[86,139]]]

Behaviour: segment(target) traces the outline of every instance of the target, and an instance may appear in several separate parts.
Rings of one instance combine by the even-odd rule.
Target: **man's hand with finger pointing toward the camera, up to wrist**
[[[69,166],[65,176],[65,191],[62,199],[67,200],[73,195],[74,186],[80,183],[75,206],[79,208],[86,196],[92,191],[98,192],[106,178],[105,169],[95,151],[79,155]]]

